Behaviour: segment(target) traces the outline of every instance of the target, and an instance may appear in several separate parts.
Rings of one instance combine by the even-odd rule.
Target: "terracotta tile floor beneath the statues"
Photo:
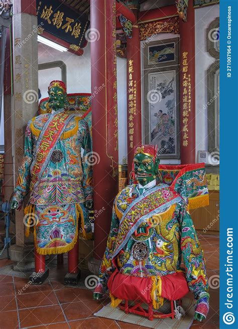
[[[216,287],[219,274],[219,239],[215,236],[199,235],[204,250],[210,286],[210,311],[208,318],[200,323],[194,321],[191,328],[217,329],[219,327],[219,289]],[[0,267],[11,264],[0,260]],[[109,302],[92,299],[92,291],[82,287],[65,287],[64,275],[67,262],[50,269],[50,276],[41,286],[28,285],[28,279],[0,275],[0,329],[77,329],[110,328],[133,329],[140,326],[93,316]],[[213,282],[213,283],[212,283]],[[193,298],[192,294],[188,294]],[[141,327],[144,328],[144,327]]]

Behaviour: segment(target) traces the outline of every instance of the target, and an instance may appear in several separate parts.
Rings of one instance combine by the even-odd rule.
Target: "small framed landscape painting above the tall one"
[[[179,64],[179,38],[145,44],[144,67],[155,68]]]

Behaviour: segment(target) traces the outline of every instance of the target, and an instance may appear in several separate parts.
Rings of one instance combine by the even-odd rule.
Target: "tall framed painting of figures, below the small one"
[[[179,68],[145,70],[145,142],[161,159],[179,159]]]

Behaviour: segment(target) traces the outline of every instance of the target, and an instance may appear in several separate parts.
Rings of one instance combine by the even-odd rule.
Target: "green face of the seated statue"
[[[145,185],[155,179],[160,160],[139,153],[134,158],[136,180]]]

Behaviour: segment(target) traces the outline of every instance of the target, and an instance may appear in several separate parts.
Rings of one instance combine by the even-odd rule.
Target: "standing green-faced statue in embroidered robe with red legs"
[[[87,154],[92,151],[85,120],[67,106],[66,86],[54,80],[48,87],[51,113],[29,121],[25,149],[11,207],[25,207],[26,235],[33,223],[35,272],[42,272],[34,283],[48,276],[45,255],[68,252],[65,284],[79,278],[78,235],[91,238],[88,210],[92,209],[92,168]],[[71,279],[72,280],[71,280]]]

